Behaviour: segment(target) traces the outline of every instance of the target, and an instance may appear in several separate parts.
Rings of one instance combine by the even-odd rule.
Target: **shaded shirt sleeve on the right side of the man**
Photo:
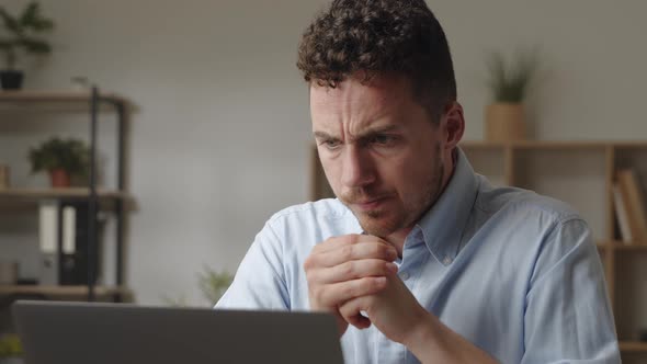
[[[560,221],[530,280],[522,363],[620,363],[603,268],[587,224]]]

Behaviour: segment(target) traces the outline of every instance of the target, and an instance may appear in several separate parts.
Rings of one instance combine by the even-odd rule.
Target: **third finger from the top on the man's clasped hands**
[[[398,266],[382,259],[352,260],[327,269],[311,270],[308,282],[329,284],[367,276],[387,276],[398,272]]]

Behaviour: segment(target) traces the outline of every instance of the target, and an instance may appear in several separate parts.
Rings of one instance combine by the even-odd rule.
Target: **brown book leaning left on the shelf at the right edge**
[[[616,173],[622,201],[627,212],[627,223],[635,242],[647,244],[647,213],[636,172],[622,169]]]

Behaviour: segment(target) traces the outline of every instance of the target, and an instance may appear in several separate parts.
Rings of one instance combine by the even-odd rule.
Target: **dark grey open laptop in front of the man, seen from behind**
[[[327,314],[18,300],[26,364],[343,363]]]

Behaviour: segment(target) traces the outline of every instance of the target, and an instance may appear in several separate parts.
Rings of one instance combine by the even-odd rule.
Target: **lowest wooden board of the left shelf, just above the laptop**
[[[97,296],[132,295],[125,286],[95,286]],[[88,286],[0,285],[0,295],[88,296]]]

